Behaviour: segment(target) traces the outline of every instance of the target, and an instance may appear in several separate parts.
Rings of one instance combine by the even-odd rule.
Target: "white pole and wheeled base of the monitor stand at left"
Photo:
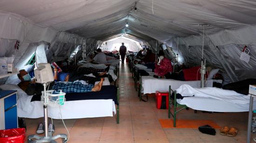
[[[57,138],[63,138],[63,143],[67,142],[67,135],[66,134],[59,134],[56,136],[48,135],[48,115],[47,115],[47,100],[48,97],[46,96],[46,84],[43,84],[44,86],[44,128],[45,128],[45,136],[37,136],[37,135],[29,135],[27,136],[28,143],[57,143],[54,141]],[[32,140],[32,139],[35,140]]]

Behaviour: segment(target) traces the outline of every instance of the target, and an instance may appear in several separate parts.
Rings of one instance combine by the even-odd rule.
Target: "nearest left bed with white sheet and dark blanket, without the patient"
[[[18,117],[44,117],[40,96],[28,96],[16,84],[3,84],[0,88],[18,91]],[[101,91],[97,92],[67,93],[65,97],[66,103],[60,108],[48,106],[48,117],[54,119],[113,117],[114,113],[116,122],[119,123],[119,88],[114,85],[102,86]]]

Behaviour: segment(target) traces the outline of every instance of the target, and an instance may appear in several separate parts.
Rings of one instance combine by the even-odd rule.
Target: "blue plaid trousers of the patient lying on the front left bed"
[[[81,82],[56,82],[53,90],[62,90],[65,93],[90,92],[94,87],[93,84],[84,85]]]

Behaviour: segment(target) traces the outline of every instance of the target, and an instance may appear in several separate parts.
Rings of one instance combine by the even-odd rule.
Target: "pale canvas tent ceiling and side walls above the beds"
[[[226,81],[238,81],[256,75],[255,15],[255,0],[1,0],[0,56],[15,54],[20,68],[44,43],[48,61],[66,58],[74,38],[77,44],[86,40],[92,51],[119,37],[128,23],[129,38],[145,41],[153,51],[165,43],[181,62],[196,65],[202,54],[200,24],[208,24],[204,58]],[[240,59],[244,45],[249,62]]]

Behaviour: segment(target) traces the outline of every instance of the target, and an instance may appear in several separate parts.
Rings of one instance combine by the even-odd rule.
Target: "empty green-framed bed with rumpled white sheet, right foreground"
[[[191,108],[194,110],[204,110],[213,112],[244,112],[249,111],[249,96],[237,93],[236,91],[229,91],[218,89],[215,87],[208,88],[192,88],[185,84],[180,88],[174,90],[173,86],[169,85],[169,100],[168,100],[168,118],[174,118],[173,126],[176,127],[177,113]],[[192,89],[192,91],[191,91]],[[179,91],[177,91],[179,90]],[[198,90],[199,95],[197,95]],[[183,99],[178,99],[177,94],[181,91],[186,91],[183,94]],[[171,95],[173,94],[173,103],[171,103]],[[182,96],[181,94],[181,96]],[[192,96],[193,95],[193,96]],[[254,101],[253,109],[256,109],[256,101]],[[171,113],[171,104],[173,104],[173,113]]]

